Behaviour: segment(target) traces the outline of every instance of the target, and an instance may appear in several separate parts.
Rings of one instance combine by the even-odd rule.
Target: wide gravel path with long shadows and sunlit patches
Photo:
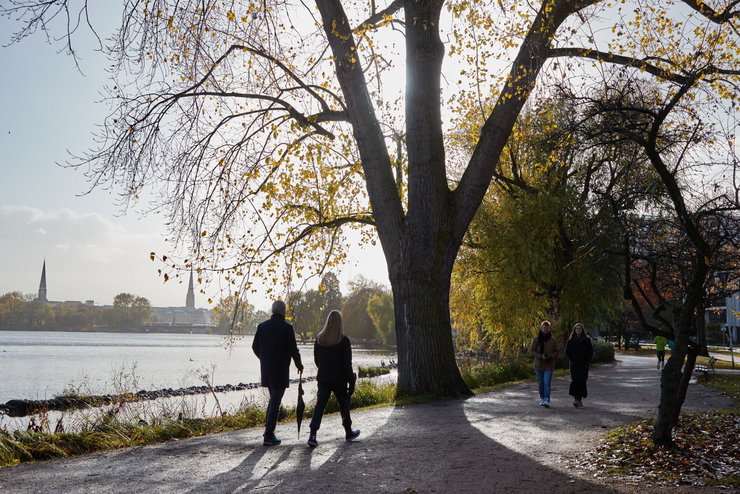
[[[324,418],[320,446],[306,447],[295,423],[280,424],[278,447],[261,430],[21,464],[0,469],[0,493],[653,493],[656,487],[599,478],[569,459],[599,444],[607,430],[655,414],[654,361],[618,356],[589,379],[574,408],[568,378],[553,381],[552,406],[539,407],[528,382],[466,401],[434,401],[353,414],[358,441],[340,437],[340,418]],[[295,393],[295,387],[288,393]],[[690,387],[685,411],[733,407],[708,387]],[[716,493],[716,487],[673,487]]]

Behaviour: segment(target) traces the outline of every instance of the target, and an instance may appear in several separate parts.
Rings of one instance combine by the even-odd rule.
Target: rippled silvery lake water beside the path
[[[212,384],[258,382],[260,361],[252,353],[252,339],[243,337],[229,352],[223,349],[222,336],[0,331],[0,403],[51,398],[70,384],[94,393],[110,392],[121,370],[135,376],[138,388],[145,390],[202,385],[196,373],[210,371],[212,365],[216,366]],[[303,375],[316,375],[313,344],[299,343],[298,348],[306,367]],[[352,358],[355,369],[380,365],[381,359],[396,359],[396,349],[353,345]],[[293,365],[291,374],[297,378]],[[132,378],[126,380],[130,383]],[[308,388],[307,392],[312,390]],[[234,401],[248,395],[246,391],[221,395],[231,395],[226,401]]]

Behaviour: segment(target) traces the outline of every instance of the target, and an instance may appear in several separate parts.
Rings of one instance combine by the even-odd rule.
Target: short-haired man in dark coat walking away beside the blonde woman
[[[285,320],[286,310],[286,304],[282,300],[273,302],[272,317],[257,327],[255,341],[252,342],[252,350],[260,359],[262,385],[270,392],[262,443],[265,446],[280,444],[280,439],[275,437],[275,426],[280,402],[290,385],[290,359],[293,358],[298,371],[303,370],[293,327]]]

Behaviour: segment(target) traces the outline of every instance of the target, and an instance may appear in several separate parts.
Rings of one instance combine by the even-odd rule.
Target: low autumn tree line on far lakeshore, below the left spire
[[[147,298],[131,293],[119,293],[113,307],[95,307],[71,302],[59,302],[52,307],[36,299],[36,293],[13,291],[0,296],[0,324],[57,326],[70,329],[93,325],[120,327],[149,322],[152,304]]]

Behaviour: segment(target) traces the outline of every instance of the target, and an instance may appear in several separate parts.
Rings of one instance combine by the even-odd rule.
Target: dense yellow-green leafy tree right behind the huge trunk
[[[514,127],[455,265],[460,346],[516,352],[542,319],[565,339],[576,321],[602,324],[622,307],[620,261],[609,251],[619,236],[602,196],[650,176],[649,164],[634,145],[585,146],[571,115],[567,101],[542,101]],[[451,137],[463,154],[475,127]]]

